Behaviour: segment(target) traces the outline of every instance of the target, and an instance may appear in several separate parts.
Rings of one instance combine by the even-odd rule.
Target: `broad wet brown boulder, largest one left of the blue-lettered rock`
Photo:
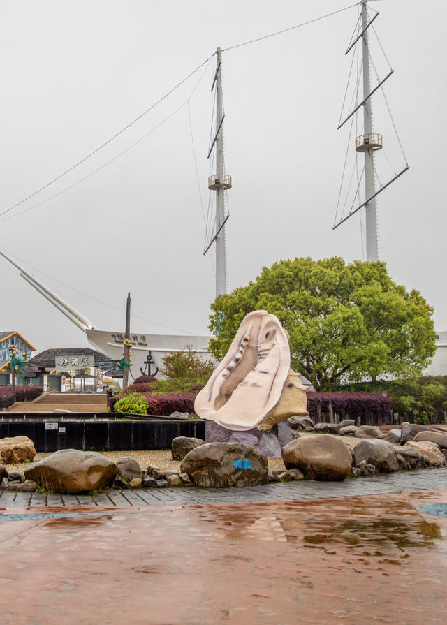
[[[45,490],[85,492],[112,485],[117,465],[94,451],[62,449],[25,469],[27,480],[34,480]]]

